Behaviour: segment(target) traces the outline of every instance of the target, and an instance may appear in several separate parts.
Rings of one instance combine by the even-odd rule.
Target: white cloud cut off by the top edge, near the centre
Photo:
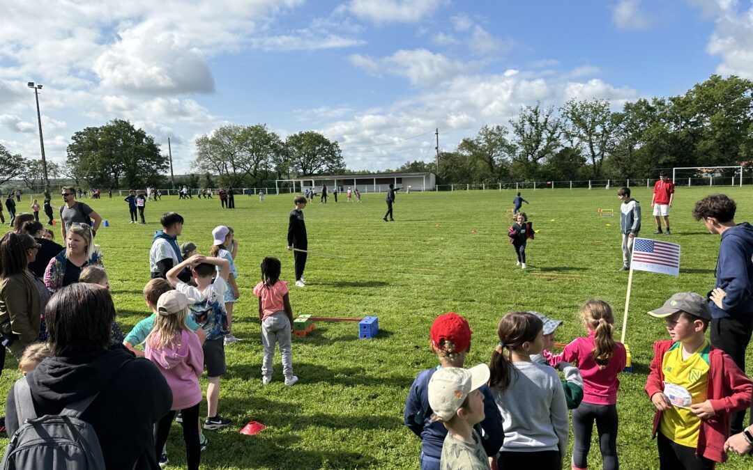
[[[372,23],[416,23],[446,4],[447,0],[351,0],[344,8]]]

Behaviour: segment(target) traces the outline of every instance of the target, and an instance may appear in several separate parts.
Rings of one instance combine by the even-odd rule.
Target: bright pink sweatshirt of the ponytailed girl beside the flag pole
[[[617,388],[620,381],[617,380],[627,360],[625,347],[622,343],[614,345],[614,356],[605,368],[599,368],[593,362],[593,335],[589,332],[588,338],[575,338],[572,343],[562,350],[562,353],[549,359],[550,365],[556,366],[559,362],[572,362],[581,369],[583,376],[583,402],[592,405],[614,405],[617,403]]]

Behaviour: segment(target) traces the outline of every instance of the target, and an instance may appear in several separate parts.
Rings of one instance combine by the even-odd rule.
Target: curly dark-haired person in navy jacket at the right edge
[[[737,205],[724,194],[696,202],[693,217],[721,235],[716,262],[716,284],[709,292],[712,312],[711,344],[729,354],[745,371],[745,350],[753,332],[753,226],[735,223]],[[732,415],[733,434],[742,431],[745,411]]]

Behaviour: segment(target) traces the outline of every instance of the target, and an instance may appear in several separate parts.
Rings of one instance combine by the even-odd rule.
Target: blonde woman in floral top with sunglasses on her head
[[[66,250],[61,251],[44,271],[44,285],[50,293],[78,282],[81,269],[102,266],[102,259],[94,253],[92,228],[85,223],[73,224],[66,233]]]

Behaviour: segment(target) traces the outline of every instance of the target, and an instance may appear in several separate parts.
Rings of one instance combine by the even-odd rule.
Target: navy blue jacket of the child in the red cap
[[[428,381],[437,368],[429,368],[420,371],[419,376],[413,381],[405,402],[404,421],[405,426],[421,438],[421,451],[430,457],[440,459],[442,445],[447,428],[440,421],[431,423],[431,406],[428,405]],[[481,444],[486,450],[486,455],[493,456],[502,447],[505,441],[505,430],[502,429],[502,417],[499,408],[494,402],[494,396],[489,387],[483,385],[479,390],[483,393],[483,421],[476,425],[476,431],[481,436]],[[481,429],[479,429],[481,428]],[[483,429],[483,432],[481,430]]]

